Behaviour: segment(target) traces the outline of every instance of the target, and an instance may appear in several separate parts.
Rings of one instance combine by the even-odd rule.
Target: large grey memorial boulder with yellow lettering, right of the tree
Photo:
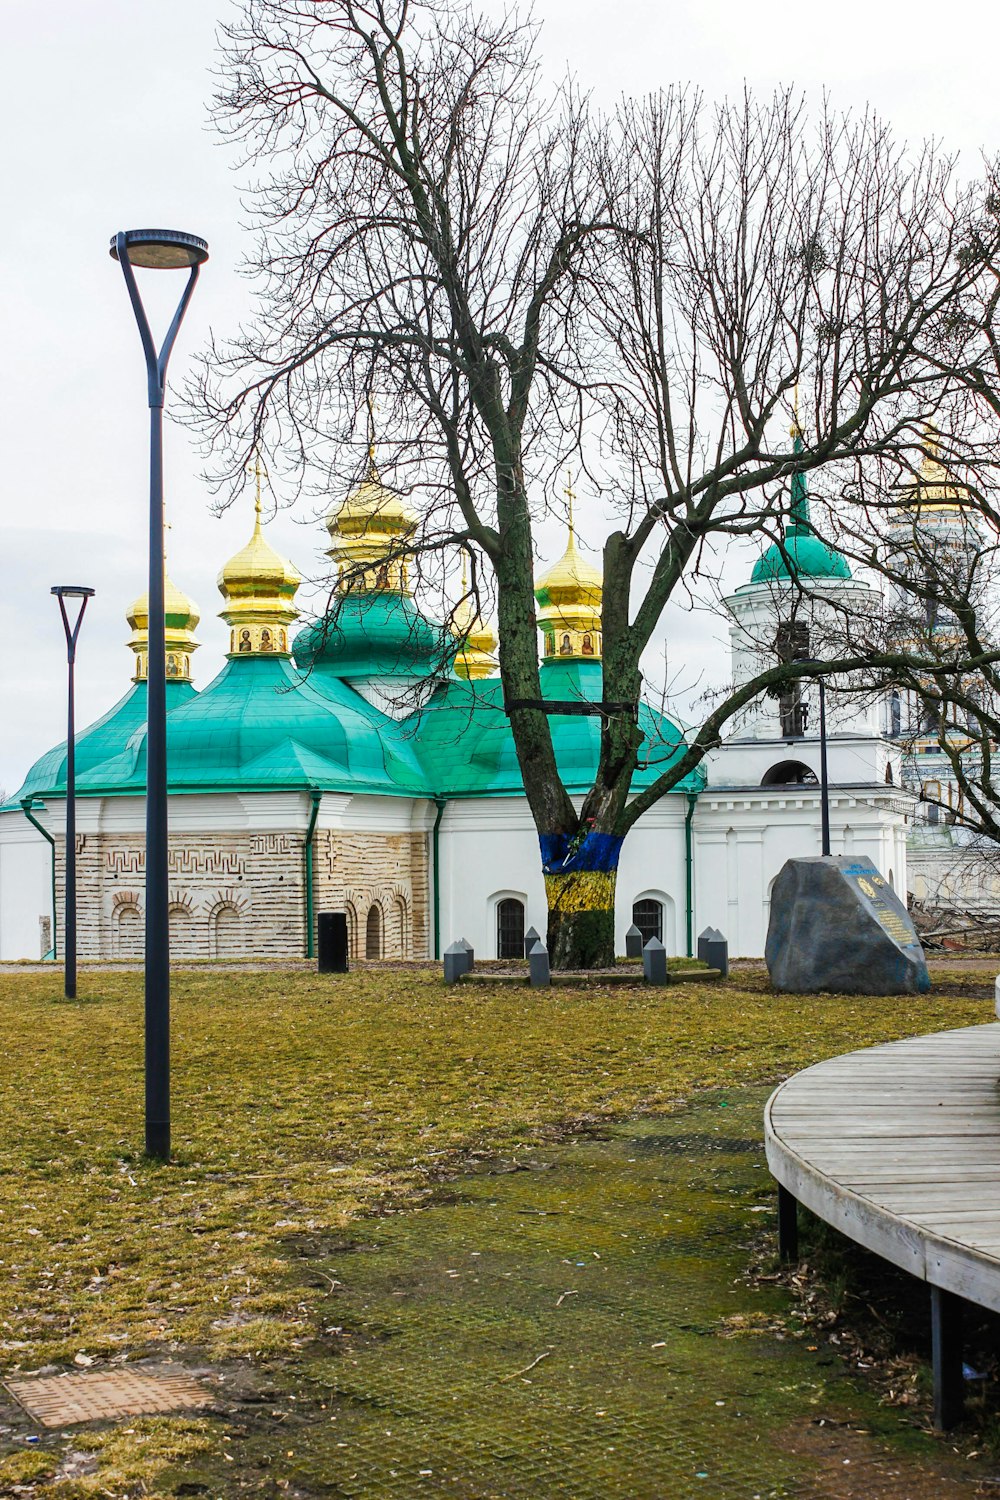
[[[910,915],[867,856],[789,860],[771,892],[765,958],[781,993],[925,994]]]

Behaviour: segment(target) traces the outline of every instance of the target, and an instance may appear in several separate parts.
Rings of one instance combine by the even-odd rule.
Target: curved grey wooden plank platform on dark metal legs
[[[931,1288],[934,1422],[961,1413],[963,1299],[1000,1312],[1000,1024],[819,1062],[765,1110],[784,1258],[796,1203]]]

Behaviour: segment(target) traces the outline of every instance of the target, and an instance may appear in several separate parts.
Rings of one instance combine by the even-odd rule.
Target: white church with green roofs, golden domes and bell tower
[[[337,608],[294,632],[300,578],[264,537],[219,574],[226,664],[198,692],[199,618],[166,585],[171,952],[297,958],[319,910],[348,915],[358,958],[427,958],[456,938],[513,957],[546,930],[538,838],[496,674],[496,639],[456,612],[450,645],[411,592],[400,538],[414,526],[372,462],[328,520]],[[405,549],[403,549],[405,550]],[[816,536],[804,486],[783,546],[727,602],[732,672],[756,670],[784,628],[793,574],[820,615],[867,585]],[[579,549],[537,582],[541,684],[601,698],[601,576]],[[147,603],[129,610],[129,690],[76,740],[78,942],[82,958],[139,958],[144,930]],[[799,622],[801,627],[801,622]],[[834,854],[867,854],[906,891],[913,796],[889,706],[829,694]],[[640,706],[634,789],[682,753],[684,730]],[[820,850],[819,726],[799,702],[751,704],[727,741],[630,832],[616,936],[636,921],[688,952],[705,926],[759,956],[771,886],[792,855]],[[553,716],[556,759],[582,800],[598,759],[595,716]],[[0,808],[0,958],[60,951],[64,766],[58,746]]]

